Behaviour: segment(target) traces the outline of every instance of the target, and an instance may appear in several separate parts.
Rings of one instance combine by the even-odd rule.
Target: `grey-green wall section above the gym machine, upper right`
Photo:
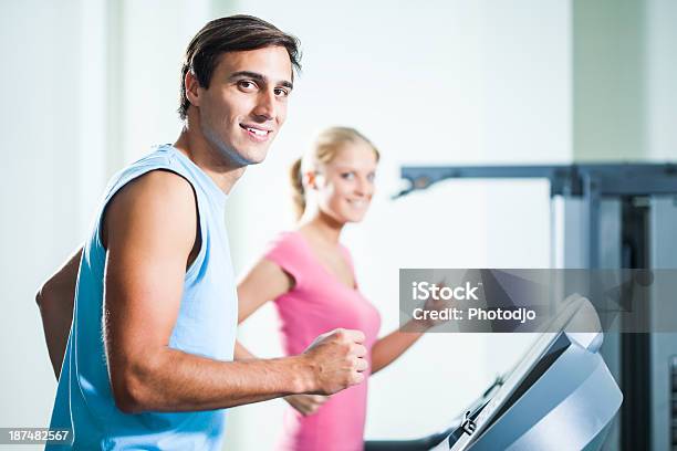
[[[646,147],[643,0],[573,0],[576,160],[637,160]]]

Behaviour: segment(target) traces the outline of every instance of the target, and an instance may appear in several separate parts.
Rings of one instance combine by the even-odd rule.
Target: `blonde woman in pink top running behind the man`
[[[289,355],[303,353],[314,338],[337,327],[364,332],[371,368],[363,384],[331,397],[287,397],[280,450],[358,451],[364,449],[369,375],[399,357],[433,324],[412,324],[417,333],[377,338],[381,317],[362,295],[351,254],[338,239],[348,222],[360,222],[374,193],[378,151],[352,128],[322,133],[291,170],[298,228],[281,233],[238,286],[239,321],[274,300]],[[236,358],[252,357],[238,345]],[[293,408],[293,409],[292,409]]]

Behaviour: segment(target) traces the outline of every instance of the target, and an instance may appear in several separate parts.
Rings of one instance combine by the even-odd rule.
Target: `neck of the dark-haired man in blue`
[[[236,181],[244,174],[246,167],[231,167],[220,158],[218,150],[205,139],[199,127],[184,126],[174,147],[202,169],[226,195],[230,193]]]

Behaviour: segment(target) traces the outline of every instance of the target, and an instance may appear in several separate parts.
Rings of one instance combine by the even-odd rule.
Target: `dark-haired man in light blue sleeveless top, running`
[[[363,380],[358,331],[299,356],[232,361],[223,208],[284,123],[296,44],[247,15],[202,28],[183,66],[178,139],[112,179],[83,248],[40,289],[59,379],[51,428],[72,431],[63,448],[218,450],[225,408]]]

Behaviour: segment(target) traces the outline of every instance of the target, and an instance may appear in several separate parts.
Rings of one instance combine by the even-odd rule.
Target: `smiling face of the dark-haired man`
[[[287,117],[292,66],[283,46],[220,56],[209,88],[199,87],[200,128],[228,166],[261,162]]]

